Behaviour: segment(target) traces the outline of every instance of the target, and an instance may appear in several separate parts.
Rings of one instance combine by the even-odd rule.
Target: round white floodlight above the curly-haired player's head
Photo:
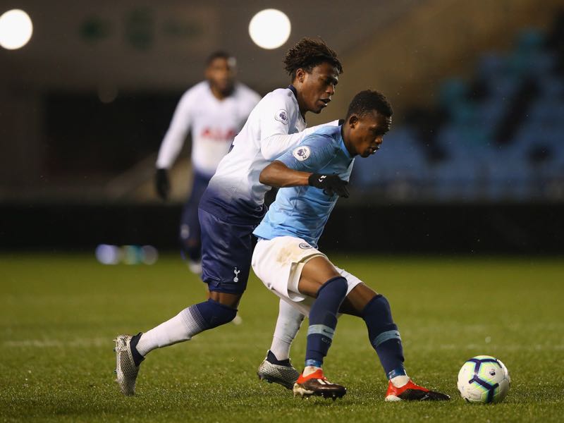
[[[249,35],[257,46],[276,49],[290,37],[290,19],[276,9],[265,9],[252,17]]]

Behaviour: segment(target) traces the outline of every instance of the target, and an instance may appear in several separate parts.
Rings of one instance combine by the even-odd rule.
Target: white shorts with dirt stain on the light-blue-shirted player
[[[327,258],[301,238],[279,236],[271,240],[259,240],[251,264],[266,288],[307,316],[315,299],[301,294],[298,291],[298,283],[304,265],[310,259],[319,256]],[[348,282],[347,295],[355,286],[362,283],[348,271],[337,266],[335,269]]]

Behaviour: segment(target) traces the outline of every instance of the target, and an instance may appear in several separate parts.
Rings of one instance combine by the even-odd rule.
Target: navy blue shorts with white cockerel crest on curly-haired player
[[[247,288],[252,231],[257,224],[233,224],[198,210],[202,230],[202,281],[210,291],[242,294]]]

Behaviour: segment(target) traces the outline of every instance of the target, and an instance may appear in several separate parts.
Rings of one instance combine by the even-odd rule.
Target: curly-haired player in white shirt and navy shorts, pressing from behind
[[[284,63],[292,85],[266,94],[252,110],[200,200],[202,280],[208,285],[208,299],[145,333],[116,338],[117,382],[124,395],[135,393],[137,373],[147,353],[188,341],[232,321],[237,314],[250,272],[252,231],[266,212],[264,194],[270,190],[259,182],[259,174],[317,129],[305,129],[305,114],[318,114],[329,104],[343,72],[336,53],[315,39],[300,40],[288,50]],[[338,121],[329,125],[336,126]],[[300,312],[280,302],[271,350],[259,367],[262,379],[293,387],[299,373],[290,364],[289,351],[302,319]]]

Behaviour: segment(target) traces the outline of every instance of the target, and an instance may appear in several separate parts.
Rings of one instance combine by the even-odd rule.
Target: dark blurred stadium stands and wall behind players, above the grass
[[[395,109],[381,152],[357,161],[324,250],[564,252],[560,1],[329,3],[1,1],[0,13],[29,13],[34,34],[23,49],[0,49],[0,250],[175,250],[190,142],[166,204],[154,161],[206,56],[230,51],[240,80],[266,94],[288,84],[286,49],[321,36],[345,72],[310,125],[343,116],[365,88]],[[293,25],[270,51],[247,32],[266,6]]]

